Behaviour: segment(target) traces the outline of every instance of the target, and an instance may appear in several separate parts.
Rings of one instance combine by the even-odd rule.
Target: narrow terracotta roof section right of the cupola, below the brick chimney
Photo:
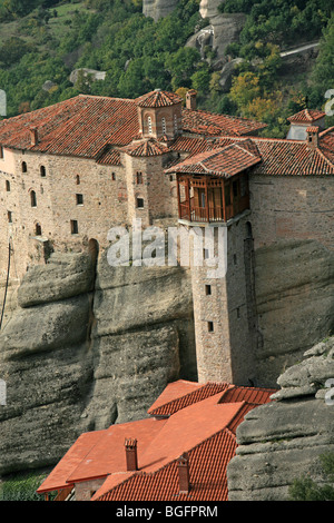
[[[266,124],[247,118],[237,118],[227,115],[217,115],[203,110],[183,110],[183,128],[195,135],[206,136],[244,136],[254,135],[264,129]]]

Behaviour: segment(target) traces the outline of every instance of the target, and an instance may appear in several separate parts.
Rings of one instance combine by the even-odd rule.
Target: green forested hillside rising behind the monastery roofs
[[[255,118],[266,134],[284,136],[286,116],[324,106],[334,88],[334,17],[325,0],[226,0],[222,12],[245,12],[239,41],[227,58],[242,58],[223,92],[214,51],[203,60],[188,38],[207,26],[199,0],[180,0],[155,22],[140,0],[0,0],[0,89],[7,115],[33,110],[79,92],[137,97],[155,88],[198,90],[199,107]],[[312,69],[286,76],[279,52],[322,38]],[[105,80],[73,69],[105,71]],[[46,85],[46,82],[48,83]],[[180,91],[181,92],[181,91]]]

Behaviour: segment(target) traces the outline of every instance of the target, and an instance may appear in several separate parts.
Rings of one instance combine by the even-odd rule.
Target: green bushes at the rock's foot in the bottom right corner
[[[322,454],[320,461],[327,483],[317,485],[310,477],[295,480],[289,487],[292,501],[334,501],[334,453]]]

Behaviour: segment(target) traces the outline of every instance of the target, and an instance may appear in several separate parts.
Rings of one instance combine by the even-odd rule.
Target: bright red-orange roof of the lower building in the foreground
[[[82,434],[37,492],[102,478],[95,501],[225,501],[236,427],[247,412],[269,402],[274,392],[227,383],[169,384],[150,407],[151,417]],[[138,441],[136,472],[126,470],[126,438]],[[190,491],[180,494],[177,461],[185,452]]]

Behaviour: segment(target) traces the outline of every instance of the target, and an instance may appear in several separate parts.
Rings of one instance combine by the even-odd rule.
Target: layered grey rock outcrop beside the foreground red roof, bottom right
[[[279,376],[274,402],[239,425],[227,470],[230,501],[285,501],[295,478],[326,481],[318,456],[334,452],[334,337],[304,356]]]

